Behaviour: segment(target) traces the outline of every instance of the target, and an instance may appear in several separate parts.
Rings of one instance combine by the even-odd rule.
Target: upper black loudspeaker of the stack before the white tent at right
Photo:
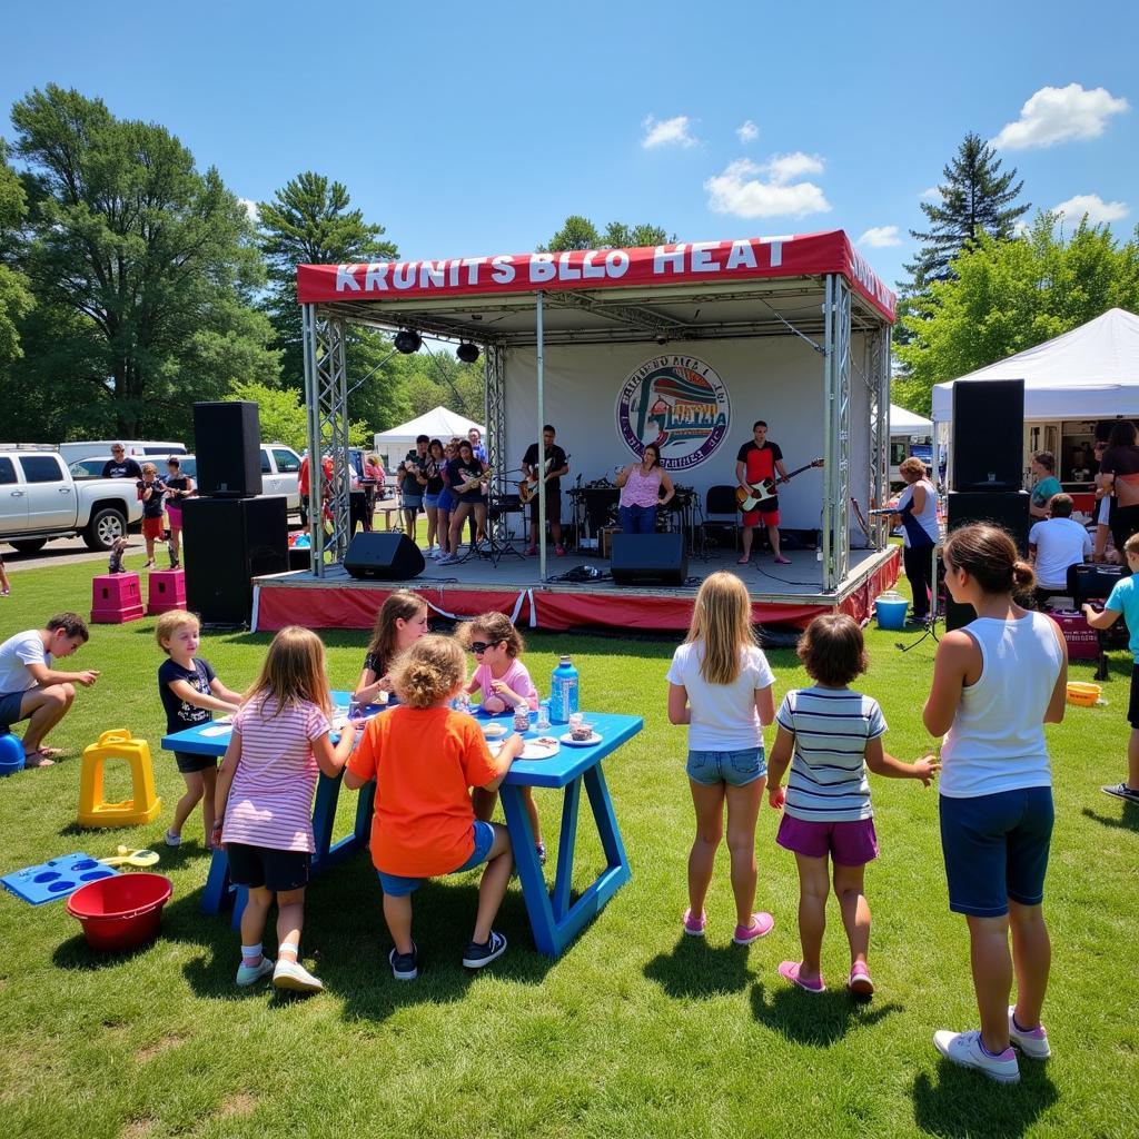
[[[1024,380],[953,384],[954,491],[1018,491],[1024,485]]]

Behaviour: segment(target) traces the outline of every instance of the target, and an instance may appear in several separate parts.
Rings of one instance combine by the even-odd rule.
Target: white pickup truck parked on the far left
[[[17,550],[34,552],[72,534],[109,550],[141,517],[133,478],[76,482],[58,451],[0,445],[0,541]]]

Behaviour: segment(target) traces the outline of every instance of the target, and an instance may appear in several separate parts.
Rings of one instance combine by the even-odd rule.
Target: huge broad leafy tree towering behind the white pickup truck
[[[190,404],[278,375],[245,210],[156,124],[49,84],[13,107],[36,306],[6,411],[59,440],[188,435]],[[38,417],[33,419],[32,417]]]

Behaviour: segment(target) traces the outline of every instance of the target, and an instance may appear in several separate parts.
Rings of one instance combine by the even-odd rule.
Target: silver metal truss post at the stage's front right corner
[[[831,592],[850,566],[851,289],[836,273],[825,285],[822,588]]]

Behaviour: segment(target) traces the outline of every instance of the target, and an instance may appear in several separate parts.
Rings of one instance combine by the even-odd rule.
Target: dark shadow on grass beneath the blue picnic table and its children
[[[417,1003],[461,1000],[478,973],[461,965],[478,903],[480,872],[426,883],[413,895],[412,933],[419,948],[419,980],[398,982],[387,961],[392,940],[384,924],[383,895],[367,854],[349,859],[310,884],[305,899],[301,958],[344,1005],[345,1019],[384,1021],[400,1008]],[[277,911],[269,915],[265,952],[276,956]],[[236,1000],[249,995],[270,1000],[270,1007],[295,1003],[271,982],[238,989],[240,935],[231,927],[232,911],[202,912],[202,891],[167,906],[163,936],[202,948],[183,967],[199,997]],[[500,980],[541,984],[554,961],[533,949],[521,892],[508,891],[494,921],[505,934],[507,952],[485,970]],[[271,995],[270,995],[271,994]]]

